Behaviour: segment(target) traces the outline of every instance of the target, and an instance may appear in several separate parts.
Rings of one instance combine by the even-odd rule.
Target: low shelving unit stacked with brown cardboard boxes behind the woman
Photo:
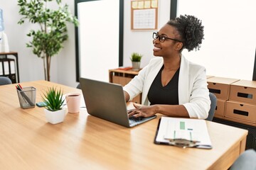
[[[245,149],[256,149],[256,81],[223,77],[207,81],[217,97],[213,121],[248,130]]]

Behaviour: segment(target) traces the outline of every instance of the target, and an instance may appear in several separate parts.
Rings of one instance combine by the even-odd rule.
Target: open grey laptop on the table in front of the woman
[[[87,113],[90,115],[127,128],[156,118],[156,115],[148,118],[129,118],[124,91],[119,84],[80,78],[80,85]]]

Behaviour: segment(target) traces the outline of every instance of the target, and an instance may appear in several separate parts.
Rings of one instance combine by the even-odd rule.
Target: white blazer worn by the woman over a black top
[[[149,88],[164,64],[162,57],[154,57],[139,74],[132,79],[124,91],[132,98],[142,93],[142,104],[149,106]],[[185,106],[190,118],[206,119],[210,110],[210,97],[206,81],[206,69],[181,56],[178,77],[178,103]]]

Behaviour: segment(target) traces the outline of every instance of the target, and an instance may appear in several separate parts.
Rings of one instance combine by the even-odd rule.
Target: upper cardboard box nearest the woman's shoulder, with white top
[[[211,77],[207,79],[208,89],[211,93],[215,94],[217,98],[228,100],[229,93],[230,93],[230,84],[238,80],[239,79]]]

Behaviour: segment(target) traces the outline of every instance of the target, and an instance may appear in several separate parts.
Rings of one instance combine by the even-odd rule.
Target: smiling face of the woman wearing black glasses
[[[182,47],[182,43],[176,41],[180,39],[180,36],[178,35],[178,31],[176,30],[176,28],[166,24],[164,27],[162,27],[159,30],[158,35],[160,35],[161,37],[164,37],[165,40],[164,42],[161,42],[163,40],[160,41],[159,38],[157,38],[156,40],[153,40],[154,56],[168,57],[168,56],[171,56],[174,54],[176,55],[177,53],[179,53],[179,50]],[[171,40],[168,38],[176,39],[176,40]]]

